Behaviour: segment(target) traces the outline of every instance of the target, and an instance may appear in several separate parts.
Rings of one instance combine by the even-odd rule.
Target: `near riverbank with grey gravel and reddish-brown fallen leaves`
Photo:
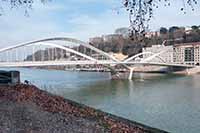
[[[23,84],[0,86],[0,115],[0,132],[164,132]]]

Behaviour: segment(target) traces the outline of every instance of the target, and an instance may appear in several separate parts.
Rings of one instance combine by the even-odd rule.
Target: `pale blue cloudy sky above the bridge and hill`
[[[128,13],[123,0],[52,0],[46,4],[34,3],[29,17],[22,9],[10,9],[3,3],[0,16],[0,47],[48,37],[71,37],[83,41],[114,33],[120,27],[129,27]],[[150,30],[160,27],[200,25],[200,8],[180,11],[181,0],[172,6],[160,5],[150,22]]]

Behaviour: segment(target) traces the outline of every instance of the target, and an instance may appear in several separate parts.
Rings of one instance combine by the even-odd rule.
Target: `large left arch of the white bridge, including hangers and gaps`
[[[16,63],[17,66],[23,66],[20,63],[24,66],[29,63],[31,66],[36,62],[38,63],[34,65],[43,65],[42,62],[61,65],[63,61],[67,62],[64,65],[73,65],[74,61],[80,64],[81,61],[100,64],[99,61],[116,62],[117,60],[88,43],[71,38],[49,38],[0,49],[0,65],[2,66],[7,64],[7,66],[14,66]]]

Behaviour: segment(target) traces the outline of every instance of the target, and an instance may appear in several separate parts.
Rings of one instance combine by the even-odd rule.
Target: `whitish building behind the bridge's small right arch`
[[[146,47],[143,48],[143,52],[151,52],[151,53],[159,53],[165,49],[168,49],[164,54],[160,54],[159,56],[162,58],[162,60],[165,63],[172,63],[173,62],[173,46],[164,46],[164,45],[153,45],[152,47]],[[152,54],[145,54],[143,55],[143,58],[147,58],[151,56]],[[151,61],[152,62],[161,62],[162,61],[159,58],[154,58]]]

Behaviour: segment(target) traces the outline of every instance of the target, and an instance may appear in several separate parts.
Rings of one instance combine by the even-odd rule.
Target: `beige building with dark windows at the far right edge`
[[[188,65],[200,64],[200,42],[176,44],[173,53],[174,63]]]

